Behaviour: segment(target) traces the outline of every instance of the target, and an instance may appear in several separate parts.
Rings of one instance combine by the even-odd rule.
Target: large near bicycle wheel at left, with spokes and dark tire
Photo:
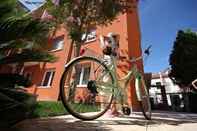
[[[98,78],[96,79],[97,81],[96,80],[93,81],[91,79],[91,80],[88,80],[87,86],[85,88],[83,87],[83,89],[88,91],[88,93],[89,93],[89,94],[84,95],[84,97],[86,97],[87,95],[90,95],[91,97],[94,96],[93,100],[88,100],[88,102],[85,102],[85,103],[84,102],[80,103],[78,101],[78,103],[76,103],[77,97],[78,97],[77,95],[79,95],[79,93],[77,94],[77,90],[79,90],[79,88],[77,87],[77,84],[73,84],[73,82],[71,82],[71,81],[75,81],[75,80],[77,81],[76,78],[72,79],[71,76],[72,76],[72,72],[74,73],[75,76],[77,76],[76,75],[77,70],[78,70],[77,68],[80,66],[80,64],[83,64],[84,62],[90,63],[90,65],[91,65],[90,72],[93,72],[93,70],[95,69],[94,66],[96,67],[97,66],[96,64],[98,64],[98,67],[100,68],[99,71],[102,71],[102,73],[100,72],[100,74],[104,74],[103,72],[107,73],[106,76],[108,76],[109,77],[108,79],[111,80],[110,84],[111,85],[114,84],[114,78],[112,77],[112,74],[109,71],[108,67],[103,62],[101,62],[97,58],[89,57],[89,56],[77,57],[77,58],[71,60],[65,67],[65,71],[63,72],[63,75],[62,75],[61,81],[60,81],[60,96],[61,96],[61,101],[62,101],[64,107],[72,116],[74,116],[78,119],[81,119],[81,120],[94,120],[94,119],[97,119],[100,116],[102,116],[110,108],[110,105],[113,100],[113,95],[114,95],[113,93],[114,92],[113,92],[113,87],[104,87],[103,85],[101,86],[101,84],[99,85],[98,83],[101,80],[99,81]],[[93,63],[91,63],[91,62],[93,62]],[[94,62],[96,63],[95,65],[93,65]],[[74,68],[72,69],[72,67],[74,67]],[[103,70],[101,69],[101,67]],[[76,70],[76,71],[74,71],[74,70]],[[71,72],[69,72],[69,71],[71,71]],[[98,72],[98,74],[99,74],[99,72]],[[90,74],[89,77],[92,77],[91,75],[92,74]],[[69,79],[69,83],[72,83],[72,84],[65,86],[67,79]],[[89,82],[94,82],[95,85],[90,86]],[[67,83],[68,83],[68,81],[67,81]],[[109,81],[107,81],[106,83],[109,83]],[[90,87],[92,89],[89,89]],[[71,92],[74,93],[74,95],[72,95]],[[93,92],[94,92],[94,95],[92,95]],[[95,92],[97,92],[96,96],[95,96]],[[103,94],[106,93],[107,96],[104,96],[105,94],[103,95],[101,93],[103,93]],[[104,101],[102,99],[104,99],[104,100],[106,99],[106,101]],[[94,102],[92,102],[92,101],[94,101]],[[88,111],[87,112],[81,111],[81,109],[77,109],[77,107],[79,107],[80,104],[81,104],[81,108],[85,107],[88,109],[90,109],[90,108],[93,109],[93,106],[95,106],[94,108],[96,109],[96,111],[94,113],[92,113],[91,111],[90,111],[91,113],[87,113]],[[95,105],[93,105],[93,104],[95,104]],[[77,107],[72,107],[74,105]],[[84,108],[84,110],[85,110],[85,108]]]

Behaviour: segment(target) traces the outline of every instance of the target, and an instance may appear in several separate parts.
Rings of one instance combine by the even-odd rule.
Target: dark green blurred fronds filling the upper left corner
[[[31,17],[17,2],[0,1],[0,65],[54,61],[46,49],[50,24]]]

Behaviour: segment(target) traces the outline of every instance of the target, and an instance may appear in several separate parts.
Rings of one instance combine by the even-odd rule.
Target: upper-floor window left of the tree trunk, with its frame
[[[61,50],[64,47],[64,36],[58,37],[53,40],[50,51]]]

